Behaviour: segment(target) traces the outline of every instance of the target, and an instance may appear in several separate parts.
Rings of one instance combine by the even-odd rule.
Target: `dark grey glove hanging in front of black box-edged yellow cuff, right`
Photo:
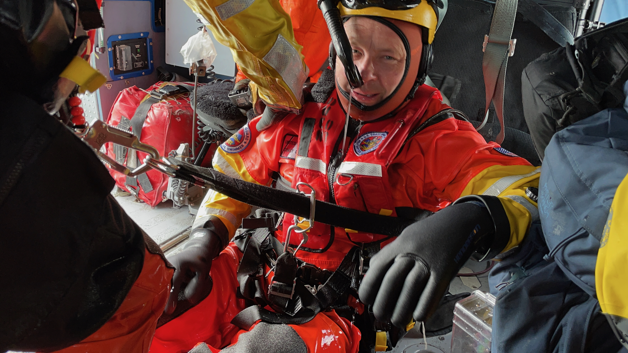
[[[477,201],[463,202],[470,200]],[[410,225],[373,256],[360,285],[360,300],[373,305],[377,320],[398,327],[405,327],[412,317],[425,321],[471,254],[494,257],[506,246],[509,234],[497,197],[460,199]]]

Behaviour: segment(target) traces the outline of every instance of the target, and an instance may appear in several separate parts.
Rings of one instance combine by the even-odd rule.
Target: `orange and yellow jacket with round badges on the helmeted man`
[[[217,149],[213,165],[225,175],[247,182],[295,190],[311,185],[318,200],[374,214],[404,217],[414,211],[437,212],[465,195],[494,195],[506,210],[511,234],[504,249],[522,241],[533,220],[536,202],[526,188],[538,187],[539,168],[487,143],[460,112],[441,102],[438,90],[423,85],[414,99],[387,119],[354,121],[355,133],[342,149],[345,112],[334,92],[323,103],[307,102],[301,114],[288,114],[268,128],[250,121]],[[349,129],[351,131],[351,129]],[[301,187],[300,191],[309,193]],[[210,190],[194,226],[215,215],[236,232],[251,206]],[[283,229],[293,224],[284,217]],[[276,234],[283,241],[284,234]],[[296,247],[303,239],[292,234]],[[315,222],[298,258],[335,270],[356,243],[393,239]]]

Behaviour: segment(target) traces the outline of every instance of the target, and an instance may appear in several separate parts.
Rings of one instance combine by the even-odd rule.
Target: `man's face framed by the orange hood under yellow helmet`
[[[393,93],[403,78],[406,50],[401,38],[386,24],[354,16],[345,22],[345,31],[353,49],[353,60],[364,85],[353,90],[352,99],[374,106]],[[349,92],[345,69],[336,58],[336,81]]]

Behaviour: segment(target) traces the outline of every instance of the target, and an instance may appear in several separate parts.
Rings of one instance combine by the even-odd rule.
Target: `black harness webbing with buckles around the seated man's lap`
[[[237,272],[238,296],[252,301],[252,305],[236,315],[232,323],[245,330],[257,320],[306,323],[322,310],[345,305],[349,293],[357,296],[368,261],[383,241],[354,246],[338,269],[331,272],[304,263],[289,252],[282,253],[283,246],[272,235],[273,231],[273,227],[253,229],[234,239],[243,253]],[[268,296],[263,288],[265,266],[274,271]],[[284,295],[273,294],[277,288],[288,290]],[[274,311],[266,310],[266,306]]]

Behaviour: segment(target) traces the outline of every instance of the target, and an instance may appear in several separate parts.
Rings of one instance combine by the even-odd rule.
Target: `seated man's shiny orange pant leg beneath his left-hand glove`
[[[239,328],[230,322],[245,308],[236,297],[237,266],[242,253],[231,243],[212,261],[214,287],[195,307],[156,330],[150,353],[187,353],[198,342],[213,347],[228,345]]]

